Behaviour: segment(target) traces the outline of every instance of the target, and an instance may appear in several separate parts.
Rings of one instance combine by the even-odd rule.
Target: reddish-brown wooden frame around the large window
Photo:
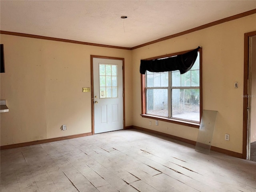
[[[166,58],[166,57],[172,57],[172,56],[176,56],[176,55],[180,55],[180,54],[184,54],[186,52],[189,52],[191,50],[186,50],[186,51],[182,51],[182,52],[176,52],[176,53],[172,53],[172,54],[166,54],[166,55],[162,55],[162,56],[157,56],[154,58],[147,58],[144,60],[153,60],[153,59],[160,59],[160,58]],[[202,118],[202,109],[203,109],[203,102],[202,102],[202,47],[198,49],[198,52],[200,52],[199,54],[199,59],[200,59],[200,66],[199,66],[199,90],[200,90],[200,120]],[[186,120],[180,120],[180,119],[175,119],[175,118],[167,118],[167,117],[161,117],[161,116],[155,116],[155,115],[149,115],[146,114],[146,75],[145,74],[140,74],[140,81],[141,81],[141,116],[144,118],[150,118],[150,119],[155,119],[155,120],[160,120],[160,121],[165,121],[165,122],[170,122],[170,123],[174,123],[174,124],[180,124],[180,125],[184,125],[184,126],[190,126],[193,128],[199,128],[200,126],[200,122],[199,123],[195,123],[195,122],[190,122],[190,121],[186,121]]]

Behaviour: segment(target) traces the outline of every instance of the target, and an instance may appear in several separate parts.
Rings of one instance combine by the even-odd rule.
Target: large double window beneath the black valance
[[[180,71],[142,74],[142,116],[198,127],[202,112],[201,61],[202,48],[192,68],[184,74]]]

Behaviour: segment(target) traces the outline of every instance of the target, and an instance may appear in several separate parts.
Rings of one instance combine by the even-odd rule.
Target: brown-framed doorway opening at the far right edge
[[[244,34],[243,158],[256,161],[256,31]]]

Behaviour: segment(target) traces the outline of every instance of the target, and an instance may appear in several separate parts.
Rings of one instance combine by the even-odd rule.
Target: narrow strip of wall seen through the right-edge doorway
[[[252,97],[251,97],[251,137],[250,141],[256,141],[256,36],[252,38]]]

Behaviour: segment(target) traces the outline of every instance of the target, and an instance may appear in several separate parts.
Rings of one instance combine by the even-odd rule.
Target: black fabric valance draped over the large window
[[[200,47],[175,57],[154,60],[140,60],[140,73],[145,74],[146,70],[150,72],[179,70],[180,74],[184,74],[194,65],[199,48]]]

